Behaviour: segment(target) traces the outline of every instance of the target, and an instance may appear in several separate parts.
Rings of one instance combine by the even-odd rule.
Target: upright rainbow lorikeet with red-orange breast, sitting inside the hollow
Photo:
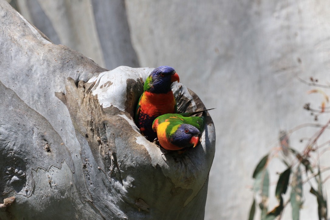
[[[156,117],[166,113],[176,113],[175,101],[171,84],[180,81],[176,71],[169,66],[160,66],[154,69],[144,84],[144,92],[136,108],[135,123],[141,133],[149,141],[157,135],[152,130],[152,122]]]

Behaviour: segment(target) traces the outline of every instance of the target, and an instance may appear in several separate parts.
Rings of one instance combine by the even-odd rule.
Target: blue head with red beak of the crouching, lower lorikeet
[[[190,124],[181,124],[171,135],[170,142],[178,147],[195,147],[201,132]]]

